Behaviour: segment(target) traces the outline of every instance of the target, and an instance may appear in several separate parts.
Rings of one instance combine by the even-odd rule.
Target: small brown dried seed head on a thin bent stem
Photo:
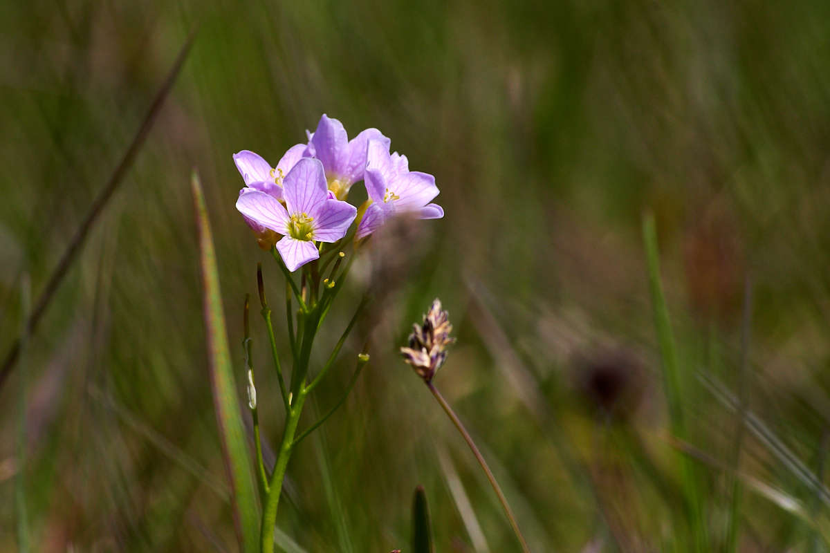
[[[450,337],[452,324],[449,313],[441,308],[441,300],[432,302],[429,312],[423,316],[423,323],[413,325],[409,335],[409,347],[402,347],[403,361],[413,366],[424,381],[432,376],[447,359],[447,346],[456,339]]]

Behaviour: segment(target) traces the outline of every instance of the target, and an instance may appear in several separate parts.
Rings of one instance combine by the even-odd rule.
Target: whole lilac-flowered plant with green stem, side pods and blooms
[[[307,395],[330,371],[346,338],[369,302],[369,295],[364,295],[325,365],[310,384],[306,384],[317,331],[328,315],[334,298],[343,288],[359,245],[398,213],[414,214],[420,219],[443,216],[440,206],[428,203],[438,194],[435,178],[422,172],[410,172],[407,158],[398,153],[390,154],[391,141],[378,129],[365,129],[349,140],[343,125],[324,114],[315,132],[308,133],[308,139],[308,143],[289,148],[276,166],[271,166],[264,158],[248,150],[233,156],[245,182],[245,187],[239,192],[237,210],[256,236],[257,245],[263,250],[271,250],[271,255],[286,277],[286,322],[293,361],[291,379],[286,381],[277,354],[271,309],[266,301],[259,264],[256,280],[261,315],[268,330],[271,356],[286,408],[281,445],[269,476],[261,454],[256,387],[251,368],[249,302],[246,299],[245,364],[263,498],[261,553],[271,553],[274,549],[276,511],[291,452],[300,440],[323,424],[343,404],[360,371],[369,361],[364,346],[344,395],[320,420],[295,438]],[[361,207],[360,220],[356,221],[357,208],[346,200],[350,187],[360,181],[366,184],[370,201]],[[349,244],[353,245],[353,253],[349,260],[345,260],[342,250]],[[328,270],[330,265],[331,269]],[[292,276],[298,269],[299,286]],[[294,300],[298,306],[296,310]],[[440,308],[440,303],[438,307]],[[452,342],[448,337],[450,328],[452,327],[447,323],[446,343]],[[441,360],[442,356],[439,356]]]

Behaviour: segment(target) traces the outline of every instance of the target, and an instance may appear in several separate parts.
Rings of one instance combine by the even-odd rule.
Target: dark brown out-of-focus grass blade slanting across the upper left
[[[193,46],[193,39],[196,38],[196,31],[197,27],[193,27],[193,30],[191,30],[188,35],[188,39],[184,41],[184,45],[182,46],[182,49],[178,51],[176,61],[173,63],[173,68],[170,69],[170,72],[164,80],[164,83],[161,85],[159,92],[155,95],[153,104],[150,104],[150,108],[144,116],[144,121],[142,122],[141,127],[139,127],[138,133],[136,133],[133,138],[133,142],[129,144],[129,148],[127,148],[127,151],[124,153],[124,157],[121,158],[118,167],[115,167],[115,171],[110,176],[110,180],[107,181],[105,187],[101,190],[98,196],[95,197],[95,201],[92,203],[92,206],[90,206],[90,211],[86,213],[84,221],[81,222],[81,226],[78,227],[75,235],[72,236],[72,240],[70,240],[69,245],[66,246],[66,250],[64,250],[63,255],[61,255],[61,260],[58,261],[55,270],[49,276],[46,286],[43,288],[40,297],[37,298],[37,303],[35,303],[32,308],[32,313],[29,313],[29,316],[26,319],[25,332],[27,334],[32,334],[34,332],[35,327],[37,327],[37,323],[40,322],[43,313],[45,313],[46,308],[49,307],[51,298],[55,295],[55,292],[61,285],[61,282],[63,282],[66,272],[69,270],[72,263],[77,259],[77,255],[81,251],[81,246],[84,245],[86,237],[90,234],[92,225],[104,212],[107,204],[110,203],[110,198],[124,180],[129,167],[132,166],[135,157],[144,145],[144,140],[147,138],[150,129],[153,128],[153,124],[159,116],[161,107],[164,105],[164,100],[167,99],[170,94],[170,90],[173,89],[173,83],[176,82],[176,77],[178,77],[178,74],[181,72],[184,61],[188,59],[190,46]],[[17,338],[6,354],[5,359],[2,361],[2,367],[0,367],[0,388],[2,388],[3,383],[6,381],[6,377],[10,372],[12,372],[12,368],[14,368],[17,357],[20,355],[20,349],[21,340],[20,338]]]

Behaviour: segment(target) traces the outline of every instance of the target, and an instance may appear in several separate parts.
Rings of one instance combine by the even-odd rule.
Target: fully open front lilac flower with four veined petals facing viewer
[[[320,257],[315,241],[336,242],[354,221],[356,210],[334,200],[325,185],[320,160],[301,158],[282,182],[283,206],[274,196],[251,190],[239,196],[237,209],[251,221],[283,235],[276,249],[288,270]]]

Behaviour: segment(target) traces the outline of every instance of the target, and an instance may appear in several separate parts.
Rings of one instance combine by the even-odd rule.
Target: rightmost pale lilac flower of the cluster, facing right
[[[418,219],[444,216],[441,206],[428,203],[438,195],[435,177],[409,171],[407,157],[397,152],[389,155],[386,143],[369,141],[364,179],[372,203],[360,220],[356,240],[372,234],[396,213],[409,213]]]

